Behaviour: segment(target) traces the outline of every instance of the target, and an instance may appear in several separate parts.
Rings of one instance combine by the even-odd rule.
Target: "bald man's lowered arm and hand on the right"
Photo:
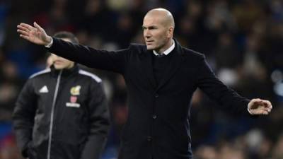
[[[216,78],[207,61],[202,57],[200,70],[197,76],[197,84],[206,93],[220,105],[228,108],[236,114],[269,114],[272,105],[268,100],[253,99],[248,100],[241,97],[235,91],[224,85]],[[248,107],[248,110],[247,110]]]

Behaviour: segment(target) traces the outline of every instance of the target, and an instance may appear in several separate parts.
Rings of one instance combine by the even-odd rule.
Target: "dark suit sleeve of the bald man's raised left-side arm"
[[[125,65],[127,64],[127,54],[129,53],[129,49],[109,52],[65,42],[55,37],[53,37],[52,47],[46,49],[48,52],[88,67],[114,71],[116,73],[124,72]]]

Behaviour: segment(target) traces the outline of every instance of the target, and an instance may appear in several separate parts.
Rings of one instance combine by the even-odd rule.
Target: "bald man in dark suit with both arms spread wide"
[[[241,97],[216,78],[203,54],[182,47],[173,38],[174,19],[166,9],[146,13],[142,28],[146,45],[112,52],[50,37],[37,23],[21,23],[18,33],[60,57],[124,76],[129,114],[119,159],[191,159],[188,117],[197,88],[236,114],[270,113],[268,100]]]

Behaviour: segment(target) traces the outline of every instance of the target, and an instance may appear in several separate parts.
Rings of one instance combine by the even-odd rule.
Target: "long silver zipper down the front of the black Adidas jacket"
[[[57,93],[59,89],[59,83],[62,75],[62,71],[60,70],[59,75],[57,77],[56,88],[54,92],[54,98],[52,102],[51,114],[50,114],[50,130],[49,130],[49,138],[48,138],[48,151],[47,151],[47,159],[50,159],[50,152],[51,152],[51,139],[52,139],[52,129],[53,129],[53,118],[54,118],[54,107],[56,104]]]

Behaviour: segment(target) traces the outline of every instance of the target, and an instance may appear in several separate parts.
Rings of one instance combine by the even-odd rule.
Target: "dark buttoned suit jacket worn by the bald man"
[[[109,52],[53,40],[50,52],[124,76],[129,114],[122,132],[120,159],[192,158],[188,114],[197,88],[223,107],[248,114],[248,100],[215,77],[203,54],[180,46],[176,40],[172,59],[158,85],[154,80],[153,53],[145,45]]]

